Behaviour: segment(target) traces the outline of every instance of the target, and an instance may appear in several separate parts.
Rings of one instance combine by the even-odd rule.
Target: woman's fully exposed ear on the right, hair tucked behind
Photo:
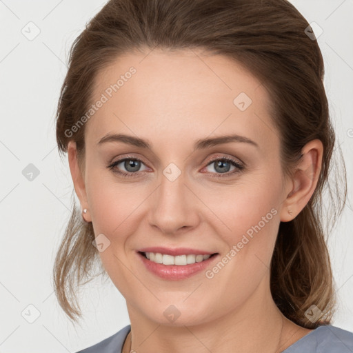
[[[292,221],[310,201],[321,172],[323,143],[319,139],[308,142],[302,149],[302,157],[286,190],[287,197],[281,209],[281,221]],[[288,213],[292,212],[292,215]]]

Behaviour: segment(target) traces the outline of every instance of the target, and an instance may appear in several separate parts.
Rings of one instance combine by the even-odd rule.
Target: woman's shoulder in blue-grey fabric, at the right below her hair
[[[319,326],[283,353],[352,353],[353,333],[332,325]]]

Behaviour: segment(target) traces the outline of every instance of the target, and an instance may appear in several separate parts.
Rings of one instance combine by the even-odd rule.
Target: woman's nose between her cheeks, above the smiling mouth
[[[166,174],[168,175],[168,174]],[[199,224],[199,203],[183,172],[173,180],[161,176],[161,183],[151,198],[150,225],[165,234],[190,231]]]

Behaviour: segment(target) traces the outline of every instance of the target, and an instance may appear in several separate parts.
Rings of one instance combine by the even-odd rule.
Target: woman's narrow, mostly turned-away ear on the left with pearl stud
[[[77,149],[76,143],[74,141],[69,141],[68,143],[68,161],[72,181],[74,183],[74,191],[76,192],[77,197],[79,198],[79,201],[81,203],[81,210],[87,208],[87,213],[84,214],[84,219],[87,222],[91,222],[92,220],[90,217],[87,195],[85,192],[85,180],[79,168],[79,163],[77,161]]]

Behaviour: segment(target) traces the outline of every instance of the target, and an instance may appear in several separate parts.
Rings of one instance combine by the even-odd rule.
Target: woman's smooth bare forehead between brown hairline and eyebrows
[[[241,64],[221,55],[157,49],[125,54],[97,75],[92,103],[99,99],[105,103],[86,132],[93,141],[108,132],[133,132],[169,143],[190,137],[191,143],[230,130],[259,144],[277,141],[268,92]]]

